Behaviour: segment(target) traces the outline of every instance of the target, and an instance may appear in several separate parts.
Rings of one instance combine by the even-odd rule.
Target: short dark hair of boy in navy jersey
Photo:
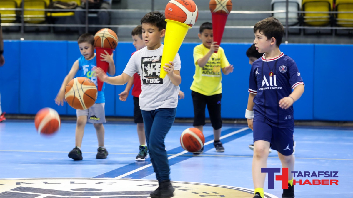
[[[265,35],[267,39],[274,37],[276,39],[277,47],[280,47],[285,30],[278,19],[274,17],[268,17],[257,22],[254,26],[254,33],[257,30],[262,32],[262,34]]]

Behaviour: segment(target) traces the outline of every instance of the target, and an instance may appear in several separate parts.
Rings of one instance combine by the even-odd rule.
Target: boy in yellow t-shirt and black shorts
[[[222,72],[225,75],[233,72],[224,50],[213,42],[212,24],[205,22],[200,26],[198,37],[202,44],[194,48],[195,75],[190,87],[194,106],[193,126],[203,131],[205,125],[205,108],[207,105],[213,127],[216,152],[224,152],[221,137],[221,98],[222,98]],[[218,51],[217,53],[214,53]],[[221,72],[222,70],[222,72]],[[203,148],[193,154],[202,154]]]

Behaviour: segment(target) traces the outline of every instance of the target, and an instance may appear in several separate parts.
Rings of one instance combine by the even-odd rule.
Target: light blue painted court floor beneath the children
[[[253,189],[251,163],[252,151],[248,145],[252,143],[252,131],[245,125],[223,125],[222,142],[224,153],[216,153],[213,147],[213,132],[209,124],[204,127],[205,152],[195,156],[184,151],[179,142],[181,132],[191,127],[192,124],[175,123],[166,137],[166,149],[169,155],[171,167],[171,179],[182,184],[192,182],[213,184],[231,187]],[[136,162],[134,158],[138,153],[138,137],[136,125],[130,122],[109,122],[104,124],[106,130],[105,146],[109,152],[108,158],[95,159],[97,151],[97,138],[95,129],[87,124],[82,143],[83,160],[73,161],[68,158],[68,152],[75,144],[76,123],[63,121],[61,130],[52,137],[43,137],[37,134],[33,120],[6,120],[0,123],[0,190],[8,185],[4,179],[18,178],[46,178],[41,184],[50,184],[48,180],[54,178],[92,178],[103,179],[104,184],[113,184],[108,179],[124,179],[126,188],[129,188],[128,179],[141,179],[137,181],[155,180],[155,174],[149,160]],[[324,128],[324,127],[296,127],[294,130],[295,171],[319,172],[338,171],[338,178],[294,178],[294,179],[337,179],[339,185],[295,185],[295,197],[320,197],[320,198],[352,198],[353,193],[353,129],[352,128]],[[268,158],[268,167],[280,168],[281,163],[277,153],[273,151]],[[71,181],[70,180],[70,181]],[[11,181],[11,180],[10,180]],[[115,181],[115,180],[112,180]],[[120,181],[120,180],[119,180]],[[136,180],[132,180],[136,181]],[[281,197],[281,182],[274,181],[274,189],[268,189],[267,179],[264,190],[274,196]],[[72,183],[73,182],[73,183]],[[30,183],[30,184],[29,184]],[[144,195],[109,195],[109,194],[82,194],[49,195],[46,191],[28,193],[28,189],[42,189],[23,187],[22,185],[35,185],[36,182],[17,182],[16,188],[8,190],[8,193],[0,193],[0,197],[18,197],[15,192],[23,191],[20,197],[54,198],[54,197],[149,197]],[[55,183],[55,182],[52,182]],[[60,182],[56,182],[60,183]],[[71,184],[80,182],[71,181]],[[83,182],[81,182],[83,183]],[[175,186],[176,183],[173,183]],[[54,185],[54,184],[53,184]],[[81,184],[83,185],[83,184]],[[143,185],[142,185],[143,186]],[[204,185],[209,186],[209,185]],[[176,192],[185,192],[176,188]],[[208,187],[209,191],[214,187]],[[206,189],[208,189],[206,188]],[[27,189],[27,190],[25,190]],[[84,191],[86,188],[70,188],[70,192]],[[77,190],[81,189],[81,190]],[[195,188],[198,189],[198,188]],[[245,190],[244,190],[245,189]],[[179,191],[178,191],[179,190]],[[24,192],[26,191],[26,192]],[[85,190],[87,191],[87,190]],[[94,190],[92,190],[94,191]],[[3,192],[3,191],[1,191]],[[66,191],[65,191],[66,192]],[[130,192],[130,191],[129,191]],[[140,191],[139,191],[140,192]],[[68,192],[66,192],[68,193]],[[142,191],[141,191],[142,193]],[[178,196],[178,193],[174,197]],[[179,194],[180,194],[179,193]],[[70,193],[69,193],[70,194]],[[142,193],[143,194],[143,193]],[[193,193],[198,197],[201,194]],[[23,196],[22,196],[23,195]],[[206,194],[207,195],[207,194]],[[220,193],[218,193],[218,196]],[[213,195],[215,197],[217,195]],[[209,195],[211,197],[211,195]],[[225,197],[249,197],[236,194]]]

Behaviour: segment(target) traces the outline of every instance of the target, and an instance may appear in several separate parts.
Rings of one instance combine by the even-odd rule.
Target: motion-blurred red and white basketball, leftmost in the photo
[[[60,129],[61,121],[58,112],[52,108],[39,110],[34,118],[38,134],[52,135]]]

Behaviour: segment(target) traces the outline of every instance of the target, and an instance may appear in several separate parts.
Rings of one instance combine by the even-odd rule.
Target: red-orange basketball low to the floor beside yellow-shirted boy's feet
[[[203,147],[204,143],[205,137],[199,129],[188,128],[181,133],[180,144],[186,151],[196,152]]]

